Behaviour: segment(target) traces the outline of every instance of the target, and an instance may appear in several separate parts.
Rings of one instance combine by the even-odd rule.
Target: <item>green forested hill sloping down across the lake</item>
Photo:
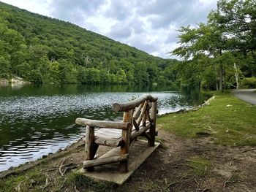
[[[0,78],[18,76],[35,83],[170,82],[164,69],[175,62],[0,2]]]

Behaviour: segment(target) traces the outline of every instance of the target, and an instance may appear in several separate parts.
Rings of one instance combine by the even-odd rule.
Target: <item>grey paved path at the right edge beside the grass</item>
[[[246,101],[249,104],[256,105],[256,89],[241,89],[233,91],[234,96]]]

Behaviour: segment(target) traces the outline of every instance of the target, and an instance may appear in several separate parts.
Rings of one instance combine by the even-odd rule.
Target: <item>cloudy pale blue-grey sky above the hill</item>
[[[125,43],[151,55],[178,47],[178,28],[205,23],[217,0],[0,0]]]

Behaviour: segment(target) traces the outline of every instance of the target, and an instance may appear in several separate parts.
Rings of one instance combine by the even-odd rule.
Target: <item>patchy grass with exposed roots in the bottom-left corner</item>
[[[42,171],[47,169],[47,166],[49,165],[39,165],[26,172],[1,179],[0,191],[61,191],[62,188],[69,191],[114,191],[116,187],[113,183],[94,182],[89,177],[75,172],[67,172],[65,177],[59,177],[58,174],[54,177],[50,172]]]

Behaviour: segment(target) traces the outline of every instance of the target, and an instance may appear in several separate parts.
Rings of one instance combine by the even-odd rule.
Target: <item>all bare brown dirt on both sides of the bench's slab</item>
[[[161,128],[158,139],[162,146],[124,185],[114,186],[110,191],[256,191],[256,148],[214,145],[209,137],[185,139]],[[56,183],[54,177],[64,178],[71,169],[82,164],[83,146],[80,141],[68,150],[45,158],[50,159],[50,164],[39,167],[39,172],[44,173],[49,182],[46,186],[44,177],[40,185],[46,187],[42,191],[48,191],[53,181]],[[101,155],[100,150],[98,155]],[[65,182],[66,179],[60,180],[59,191],[72,191]],[[33,185],[31,183],[31,191]],[[79,187],[75,190],[86,191]]]

